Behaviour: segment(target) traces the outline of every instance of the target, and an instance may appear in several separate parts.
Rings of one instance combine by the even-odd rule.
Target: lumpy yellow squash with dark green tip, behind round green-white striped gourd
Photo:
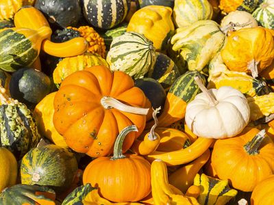
[[[174,33],[172,9],[162,5],[148,5],[135,12],[127,25],[127,32],[142,33],[153,42],[156,51],[166,50]]]

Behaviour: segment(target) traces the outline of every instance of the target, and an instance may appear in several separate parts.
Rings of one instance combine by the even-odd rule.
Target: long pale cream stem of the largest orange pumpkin
[[[142,108],[142,107],[133,107],[130,105],[125,105],[119,100],[116,100],[115,98],[108,97],[108,96],[103,96],[101,98],[101,105],[105,109],[118,109],[119,111],[124,111],[127,113],[134,113],[134,114],[139,114],[139,115],[147,115],[149,112],[149,108]]]

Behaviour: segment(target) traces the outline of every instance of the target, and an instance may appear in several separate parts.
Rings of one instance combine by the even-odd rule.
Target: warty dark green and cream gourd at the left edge
[[[0,106],[0,146],[21,159],[39,141],[36,122],[24,104]]]

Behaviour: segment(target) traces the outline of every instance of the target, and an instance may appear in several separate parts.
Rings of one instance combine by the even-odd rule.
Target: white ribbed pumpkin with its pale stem
[[[203,91],[186,106],[186,125],[199,137],[223,139],[238,135],[249,123],[247,98],[233,87],[223,86],[207,90],[195,79]]]

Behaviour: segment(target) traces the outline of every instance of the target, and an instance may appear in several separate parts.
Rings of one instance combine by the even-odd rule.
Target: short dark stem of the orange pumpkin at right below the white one
[[[266,134],[265,129],[257,133],[255,137],[249,142],[247,142],[244,146],[245,151],[250,155],[259,154],[259,147],[264,140],[264,135]]]

